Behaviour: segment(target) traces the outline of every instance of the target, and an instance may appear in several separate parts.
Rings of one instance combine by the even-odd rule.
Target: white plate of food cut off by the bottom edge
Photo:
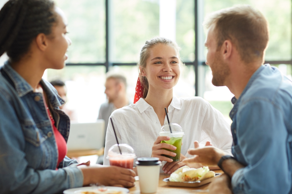
[[[123,187],[77,187],[63,191],[64,194],[127,194],[129,189]]]

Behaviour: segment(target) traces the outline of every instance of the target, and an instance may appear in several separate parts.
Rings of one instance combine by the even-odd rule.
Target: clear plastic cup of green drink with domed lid
[[[172,133],[170,132],[169,127],[171,127]],[[164,154],[162,154],[162,156],[166,156],[168,158],[171,158],[171,159],[173,159],[173,161],[179,161],[180,160],[180,150],[181,150],[181,145],[182,145],[182,140],[183,140],[184,134],[185,133],[183,132],[183,129],[180,127],[179,124],[176,124],[176,123],[164,124],[161,127],[161,130],[159,132],[159,136],[168,136],[168,137],[170,137],[170,140],[161,141],[161,143],[167,143],[167,144],[175,146],[176,150],[172,150],[172,149],[166,149],[166,150],[176,153],[176,156],[168,156],[168,155],[164,155]]]

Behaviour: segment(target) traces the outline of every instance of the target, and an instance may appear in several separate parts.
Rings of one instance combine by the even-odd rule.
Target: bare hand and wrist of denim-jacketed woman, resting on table
[[[99,183],[105,186],[132,187],[135,182],[135,172],[128,168],[105,165],[77,166],[83,173],[83,186]]]

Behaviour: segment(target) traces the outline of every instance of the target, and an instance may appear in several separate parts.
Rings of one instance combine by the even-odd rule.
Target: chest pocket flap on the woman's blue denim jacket
[[[36,147],[39,147],[48,138],[31,120],[25,120],[25,122],[21,122],[21,125],[25,140]]]

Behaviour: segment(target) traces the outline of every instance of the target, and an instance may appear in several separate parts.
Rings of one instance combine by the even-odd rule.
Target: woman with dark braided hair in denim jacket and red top
[[[79,165],[66,155],[69,117],[64,100],[42,79],[62,69],[71,41],[51,0],[9,0],[0,10],[0,194],[59,193],[90,183],[133,186],[135,172]]]

